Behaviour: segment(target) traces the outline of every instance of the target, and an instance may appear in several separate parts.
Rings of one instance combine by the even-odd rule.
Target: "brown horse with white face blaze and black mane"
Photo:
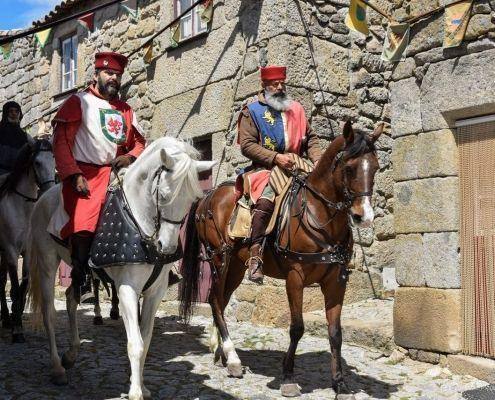
[[[290,214],[285,221],[279,218],[276,232],[268,238],[263,270],[267,276],[286,280],[291,315],[290,346],[283,361],[281,386],[285,396],[300,395],[294,381],[294,356],[304,333],[303,289],[313,283],[320,285],[325,299],[332,387],[339,398],[349,394],[342,374],[340,314],[353,246],[350,220],[360,227],[373,221],[371,195],[378,170],[374,143],[382,131],[380,124],[372,135],[355,133],[347,122],[343,135],[330,144],[315,169],[307,176],[294,175],[286,200]],[[227,235],[234,203],[233,185],[226,183],[208,193],[190,211],[181,312],[187,319],[197,299],[202,244],[202,258],[210,261],[212,269],[209,302],[219,331],[212,340],[220,339],[222,344],[215,352],[215,361],[221,357],[229,374],[241,377],[241,362],[224,319],[225,307],[243,280],[249,257],[247,244],[233,242]]]

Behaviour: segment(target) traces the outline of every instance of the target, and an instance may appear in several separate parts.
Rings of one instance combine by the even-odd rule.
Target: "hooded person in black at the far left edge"
[[[22,110],[15,101],[3,106],[0,121],[0,174],[11,172],[17,154],[28,143],[28,135],[21,129]]]

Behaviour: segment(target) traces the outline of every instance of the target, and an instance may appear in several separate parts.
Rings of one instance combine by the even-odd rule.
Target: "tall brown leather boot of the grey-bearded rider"
[[[253,210],[251,222],[251,247],[246,261],[249,280],[263,284],[263,239],[270,223],[275,204],[267,199],[259,199]]]

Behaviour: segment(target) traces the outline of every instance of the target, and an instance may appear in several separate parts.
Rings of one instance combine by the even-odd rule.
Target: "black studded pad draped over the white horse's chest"
[[[120,188],[109,188],[103,212],[91,245],[89,266],[105,268],[126,264],[168,264],[182,258],[182,248],[163,255],[139,230],[125,204]]]

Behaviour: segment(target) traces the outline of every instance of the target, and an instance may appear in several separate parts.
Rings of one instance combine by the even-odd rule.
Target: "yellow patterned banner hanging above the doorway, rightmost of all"
[[[456,47],[462,43],[471,17],[472,5],[473,0],[465,0],[445,7],[443,47]]]

